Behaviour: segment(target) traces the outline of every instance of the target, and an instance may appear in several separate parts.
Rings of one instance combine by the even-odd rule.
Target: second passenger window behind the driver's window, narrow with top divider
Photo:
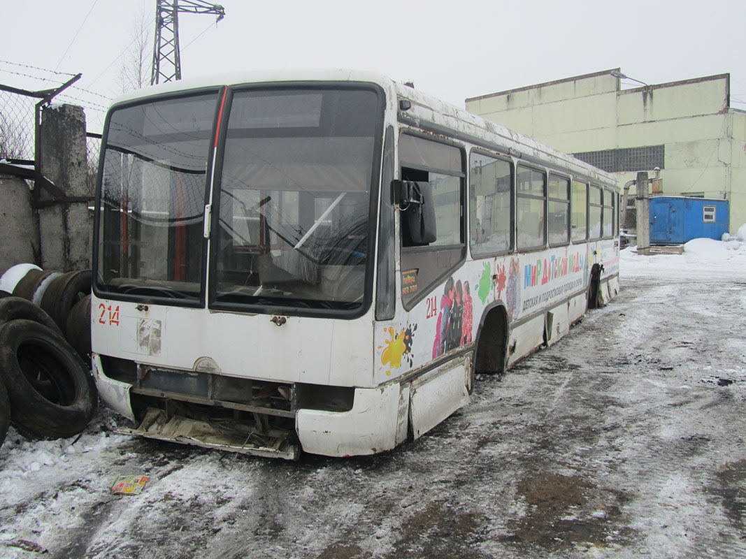
[[[518,248],[543,247],[545,239],[546,175],[542,171],[518,166]]]

